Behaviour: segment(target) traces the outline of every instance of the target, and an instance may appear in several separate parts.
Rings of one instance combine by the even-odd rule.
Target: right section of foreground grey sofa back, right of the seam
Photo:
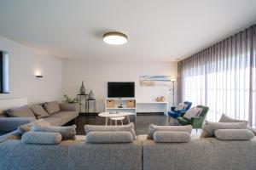
[[[253,170],[256,138],[252,140],[191,139],[189,143],[143,140],[143,169]]]

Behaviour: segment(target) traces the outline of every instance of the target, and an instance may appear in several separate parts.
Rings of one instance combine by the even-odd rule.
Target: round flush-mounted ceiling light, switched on
[[[121,45],[128,41],[128,37],[121,32],[107,32],[103,35],[103,41],[113,45]]]

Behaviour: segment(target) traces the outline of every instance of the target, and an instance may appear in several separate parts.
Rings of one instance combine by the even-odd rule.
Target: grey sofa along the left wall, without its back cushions
[[[61,111],[54,114],[50,114],[43,119],[50,123],[52,126],[62,126],[67,122],[72,121],[79,116],[79,112],[76,111],[75,105],[60,104]],[[34,117],[8,117],[5,114],[0,115],[0,135],[13,132],[19,126],[36,121]]]

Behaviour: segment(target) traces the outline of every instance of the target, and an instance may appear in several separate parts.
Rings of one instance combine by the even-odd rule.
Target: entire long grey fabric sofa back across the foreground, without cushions
[[[154,143],[145,136],[127,144],[24,144],[17,133],[0,137],[0,169],[89,170],[253,170],[256,138],[221,141],[192,138],[189,143]]]

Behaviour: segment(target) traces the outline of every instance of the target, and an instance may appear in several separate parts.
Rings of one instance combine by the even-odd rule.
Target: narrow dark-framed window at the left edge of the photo
[[[9,94],[9,59],[5,51],[0,51],[0,94]]]

